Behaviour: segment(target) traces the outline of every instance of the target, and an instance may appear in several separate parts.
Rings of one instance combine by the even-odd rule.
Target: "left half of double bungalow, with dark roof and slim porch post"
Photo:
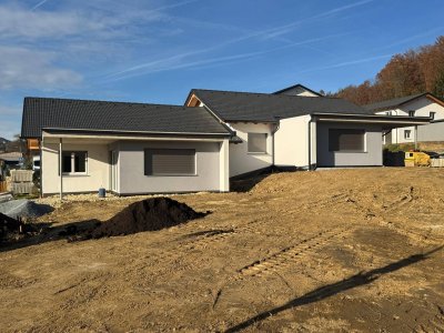
[[[41,194],[229,191],[234,133],[204,108],[26,98]]]

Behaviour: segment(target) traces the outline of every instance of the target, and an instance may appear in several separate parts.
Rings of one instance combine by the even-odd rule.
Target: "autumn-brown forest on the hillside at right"
[[[393,56],[373,80],[327,95],[364,105],[422,92],[444,98],[444,36],[434,44]]]

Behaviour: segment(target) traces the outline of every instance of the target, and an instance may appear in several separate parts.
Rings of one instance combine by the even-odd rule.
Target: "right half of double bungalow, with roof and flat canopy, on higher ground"
[[[236,132],[230,144],[230,176],[271,165],[382,165],[382,133],[430,122],[428,118],[374,114],[326,97],[194,89],[185,105],[203,107]]]

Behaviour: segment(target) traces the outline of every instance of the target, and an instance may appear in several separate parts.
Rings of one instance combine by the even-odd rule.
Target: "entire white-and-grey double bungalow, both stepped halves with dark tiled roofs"
[[[293,88],[194,89],[184,107],[26,98],[21,137],[40,151],[42,195],[130,195],[229,191],[230,178],[273,165],[382,165],[384,132],[430,123]]]

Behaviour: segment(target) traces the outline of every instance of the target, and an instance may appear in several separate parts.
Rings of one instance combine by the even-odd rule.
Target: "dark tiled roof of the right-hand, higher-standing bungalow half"
[[[195,94],[223,121],[268,121],[312,113],[373,114],[346,100],[272,93],[193,89]]]

